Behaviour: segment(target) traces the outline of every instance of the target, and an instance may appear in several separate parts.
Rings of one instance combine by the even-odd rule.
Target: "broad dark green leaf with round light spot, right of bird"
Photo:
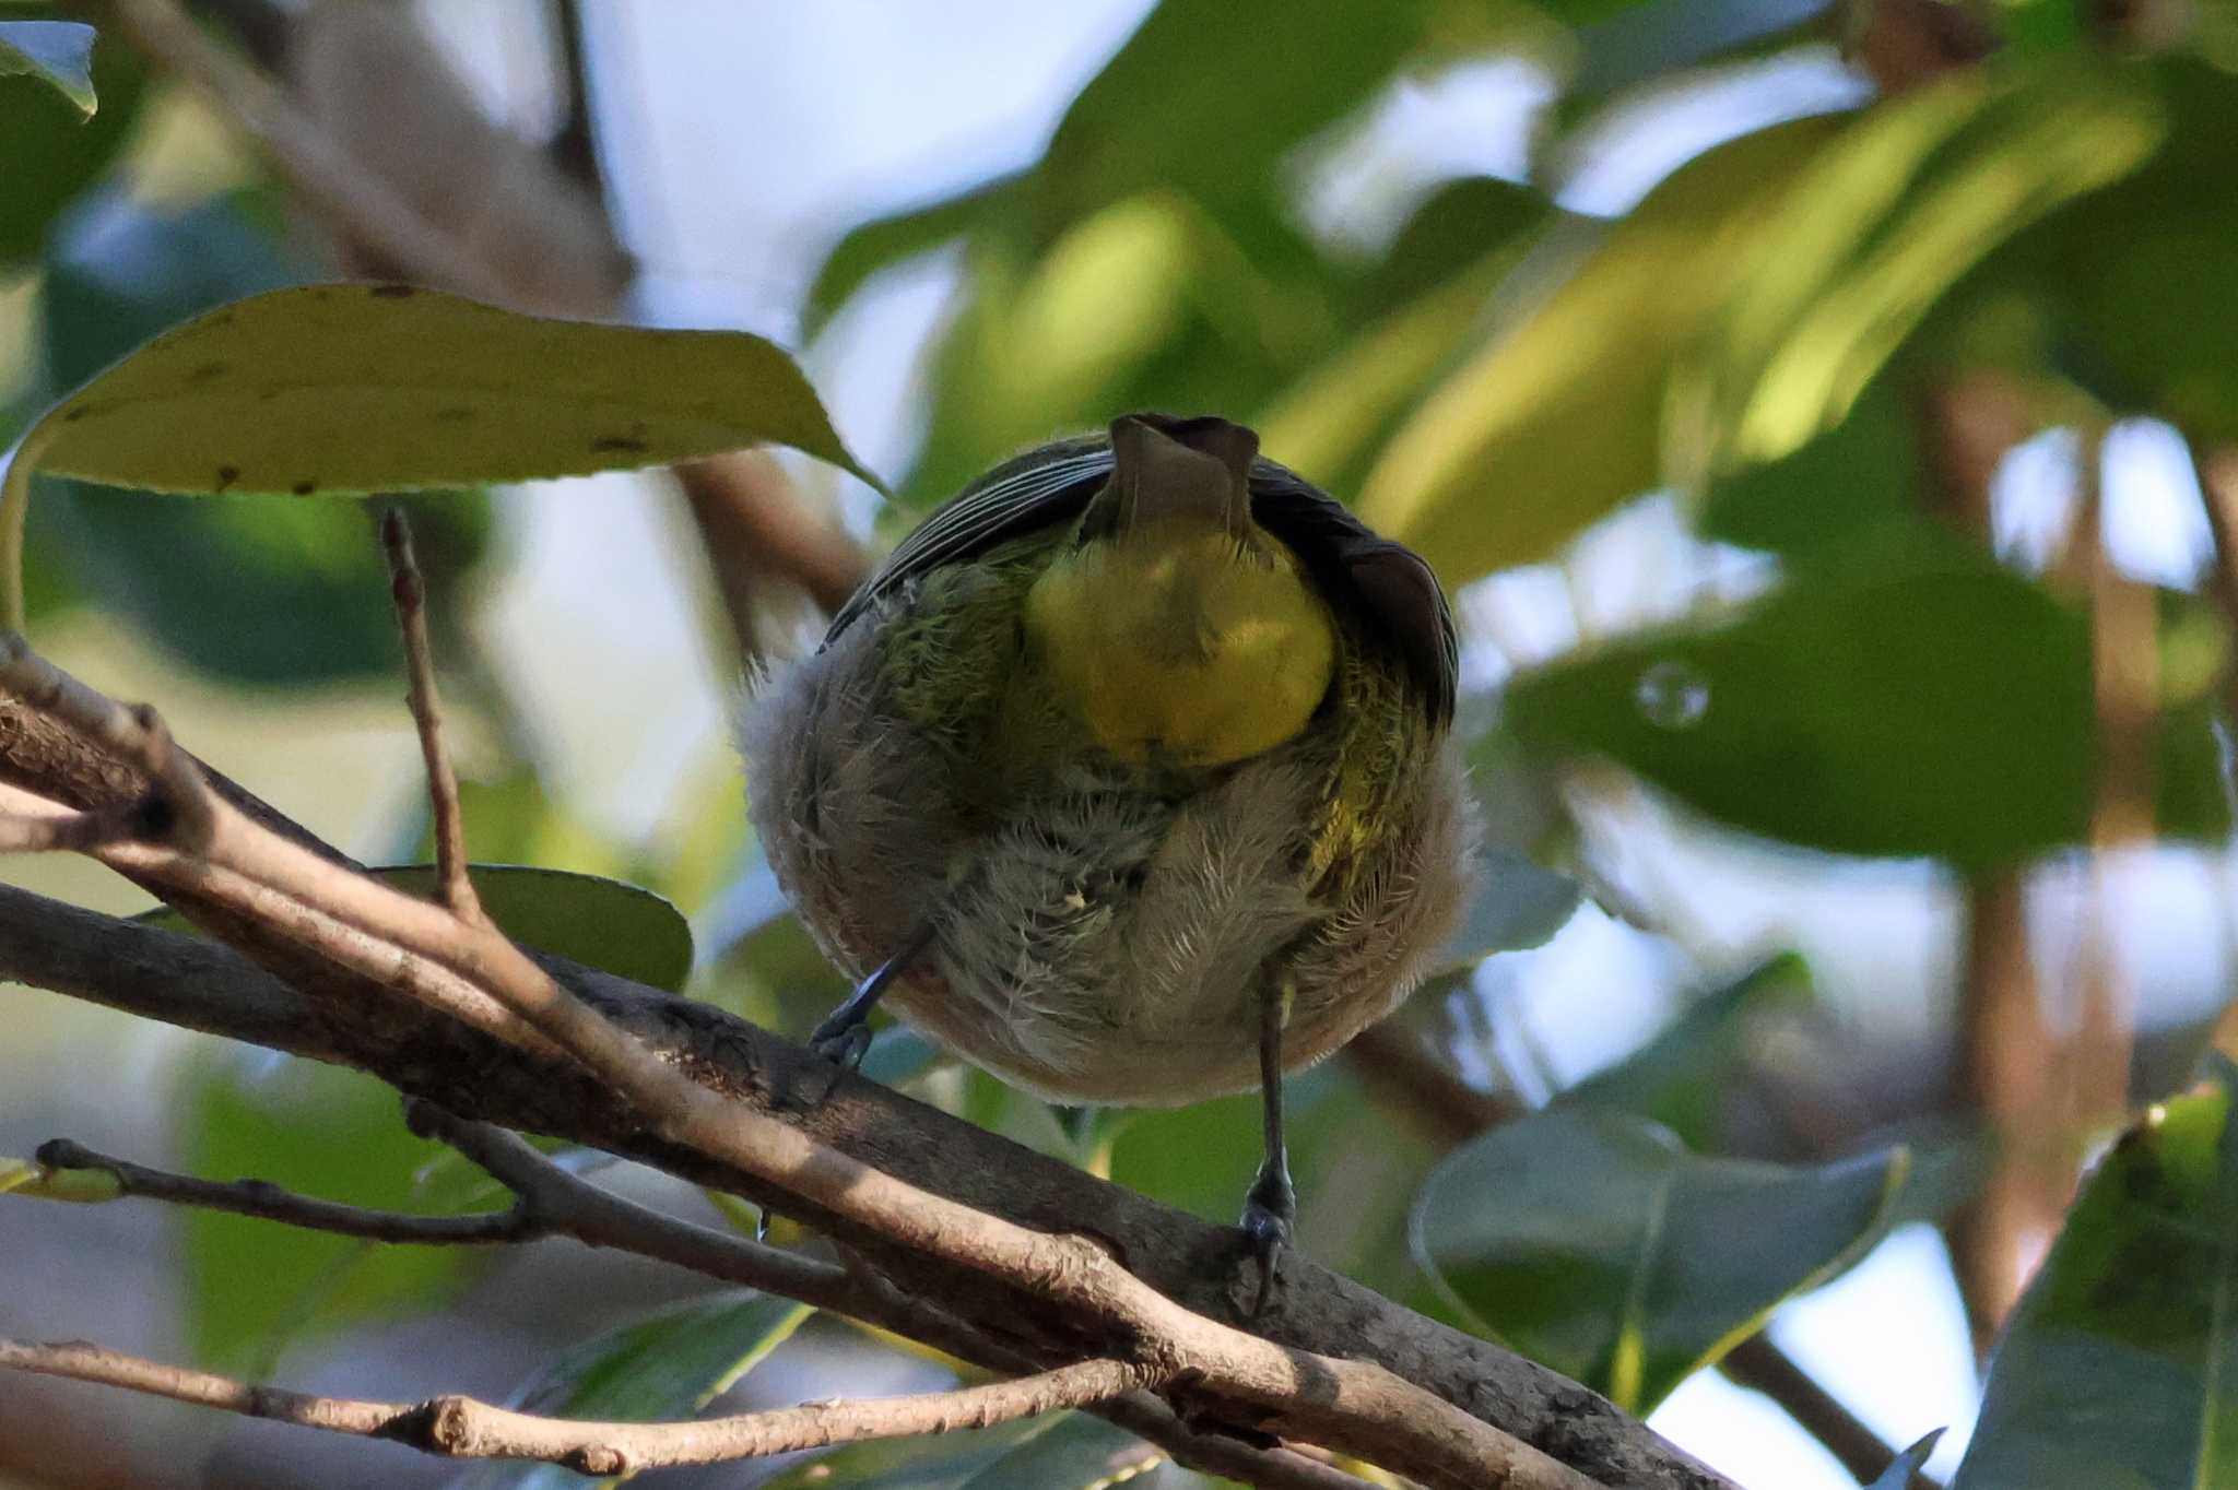
[[[1840,559],[1732,624],[1517,678],[1515,736],[1609,756],[1712,817],[1833,852],[1985,868],[2084,837],[2088,620],[1927,530]],[[2195,711],[2164,727],[2164,765],[2211,758],[2211,741],[2189,741]],[[2229,828],[2211,781],[2162,779],[2160,805],[2171,834]]]

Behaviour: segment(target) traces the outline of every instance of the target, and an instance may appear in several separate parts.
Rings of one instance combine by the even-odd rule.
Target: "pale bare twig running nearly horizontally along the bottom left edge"
[[[580,1474],[636,1474],[685,1463],[730,1463],[866,1439],[909,1439],[1012,1423],[1103,1403],[1144,1387],[1150,1371],[1126,1360],[1074,1365],[951,1392],[808,1403],[696,1423],[575,1423],[510,1412],[470,1396],[365,1403],[311,1396],[159,1365],[78,1340],[0,1340],[0,1367],[90,1380],[177,1403],[217,1407],[360,1439],[387,1439],[448,1459],[539,1459]]]

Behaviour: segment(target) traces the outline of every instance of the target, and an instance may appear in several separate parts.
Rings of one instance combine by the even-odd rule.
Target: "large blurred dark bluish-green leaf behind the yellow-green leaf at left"
[[[58,387],[181,318],[293,282],[291,260],[242,197],[157,213],[103,192],[56,235],[40,345]],[[172,656],[239,682],[394,676],[387,568],[354,501],[148,501],[81,483],[31,510],[29,577],[67,575]],[[412,501],[432,606],[483,546],[479,494]]]

